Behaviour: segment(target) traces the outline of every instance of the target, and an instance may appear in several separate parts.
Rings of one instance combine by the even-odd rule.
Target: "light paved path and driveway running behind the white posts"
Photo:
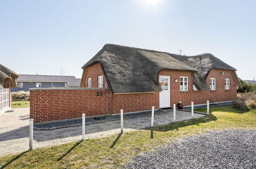
[[[205,116],[194,113],[194,118]],[[176,111],[176,121],[188,120],[190,112]],[[154,126],[173,122],[173,113],[154,116]],[[124,132],[150,127],[151,115],[124,119]],[[0,114],[0,156],[29,149],[29,108],[12,109]],[[120,120],[86,124],[86,138],[99,138],[120,133]],[[64,144],[82,139],[82,126],[35,131],[34,148]]]

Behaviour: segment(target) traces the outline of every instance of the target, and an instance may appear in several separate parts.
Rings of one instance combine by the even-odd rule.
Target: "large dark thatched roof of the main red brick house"
[[[162,91],[157,78],[163,69],[190,71],[198,90],[210,90],[205,81],[210,69],[234,68],[211,54],[181,56],[167,52],[105,45],[82,69],[101,62],[103,72],[113,93]]]

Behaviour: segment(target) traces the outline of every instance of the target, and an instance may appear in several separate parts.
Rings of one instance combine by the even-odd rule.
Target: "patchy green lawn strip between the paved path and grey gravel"
[[[205,112],[206,109],[195,111]],[[210,116],[127,132],[99,139],[49,146],[0,157],[0,166],[10,168],[113,168],[131,161],[142,151],[157,149],[179,137],[209,130],[256,130],[256,110],[240,111],[232,106],[210,108]],[[151,138],[153,136],[153,138]]]

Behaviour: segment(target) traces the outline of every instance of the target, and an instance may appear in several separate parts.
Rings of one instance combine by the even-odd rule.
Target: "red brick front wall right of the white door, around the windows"
[[[224,75],[222,75],[224,72]],[[207,76],[207,84],[209,85],[209,78],[216,78],[216,90],[213,91],[193,91],[193,83],[191,73],[187,71],[173,71],[162,70],[159,75],[170,76],[170,89],[171,89],[171,107],[173,104],[181,101],[184,105],[190,105],[191,101],[194,104],[203,104],[207,100],[210,102],[229,101],[237,98],[237,83],[234,80],[233,71],[212,69]],[[180,91],[180,76],[188,77],[188,91]],[[225,78],[230,79],[230,90],[225,91]],[[178,82],[174,82],[178,79]]]

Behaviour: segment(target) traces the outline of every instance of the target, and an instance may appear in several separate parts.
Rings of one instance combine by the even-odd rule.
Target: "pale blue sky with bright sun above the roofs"
[[[0,64],[18,74],[82,77],[105,44],[211,53],[256,78],[256,1],[0,0]]]

